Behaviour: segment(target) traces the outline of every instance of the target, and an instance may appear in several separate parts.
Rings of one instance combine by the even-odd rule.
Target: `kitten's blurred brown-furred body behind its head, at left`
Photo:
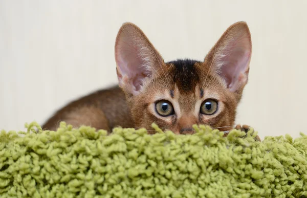
[[[133,127],[125,95],[118,86],[100,90],[77,99],[61,108],[45,124],[43,129],[56,130],[60,121],[92,126],[111,131],[116,126]]]

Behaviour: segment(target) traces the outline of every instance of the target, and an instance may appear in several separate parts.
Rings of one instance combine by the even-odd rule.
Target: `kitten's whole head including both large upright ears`
[[[249,28],[238,22],[225,31],[204,61],[164,62],[142,30],[123,24],[115,59],[135,127],[150,129],[155,122],[174,133],[192,134],[193,124],[233,125],[248,81],[251,52]]]

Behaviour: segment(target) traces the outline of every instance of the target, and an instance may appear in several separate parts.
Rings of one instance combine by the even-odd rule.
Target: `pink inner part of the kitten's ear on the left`
[[[129,83],[133,92],[139,91],[144,78],[150,75],[150,71],[145,66],[146,59],[142,57],[144,56],[142,50],[141,46],[128,35],[119,38],[116,46],[119,83]],[[127,82],[122,82],[124,76],[126,76]]]

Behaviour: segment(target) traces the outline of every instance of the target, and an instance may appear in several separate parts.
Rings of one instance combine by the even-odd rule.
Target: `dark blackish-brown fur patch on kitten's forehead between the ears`
[[[170,65],[170,78],[177,85],[181,93],[194,92],[196,85],[200,82],[200,71],[196,67],[196,60],[176,60],[167,62]]]

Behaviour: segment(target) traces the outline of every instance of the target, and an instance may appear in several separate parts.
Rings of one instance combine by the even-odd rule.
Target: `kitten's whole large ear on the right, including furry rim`
[[[231,92],[242,92],[248,81],[251,34],[243,21],[230,26],[205,58],[205,64],[225,79]]]

